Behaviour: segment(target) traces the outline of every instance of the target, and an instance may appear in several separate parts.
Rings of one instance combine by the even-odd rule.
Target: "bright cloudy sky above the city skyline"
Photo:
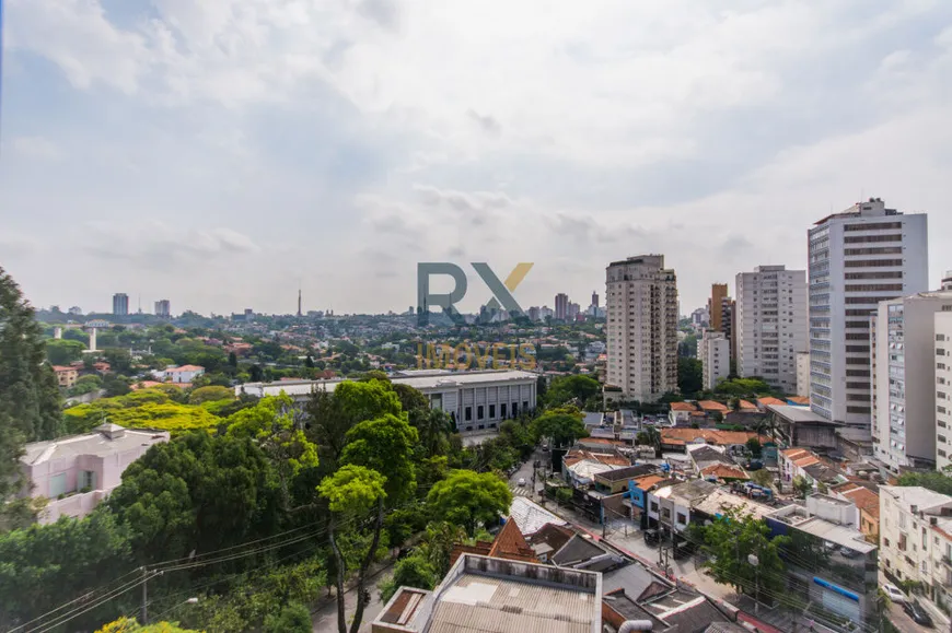
[[[660,253],[682,312],[860,199],[952,269],[945,0],[5,0],[0,266],[37,306],[583,307]],[[449,283],[445,284],[446,286]],[[449,290],[434,282],[434,290]],[[732,291],[733,292],[733,291]],[[603,300],[604,301],[604,300]]]

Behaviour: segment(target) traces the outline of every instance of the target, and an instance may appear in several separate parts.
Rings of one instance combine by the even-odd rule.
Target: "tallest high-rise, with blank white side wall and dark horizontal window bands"
[[[810,228],[810,407],[869,426],[870,316],[879,302],[928,290],[925,213],[857,202]]]

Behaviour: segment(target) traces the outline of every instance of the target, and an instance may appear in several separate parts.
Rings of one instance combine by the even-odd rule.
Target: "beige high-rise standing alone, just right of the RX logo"
[[[654,402],[677,390],[677,280],[663,255],[606,269],[607,383],[626,400]]]

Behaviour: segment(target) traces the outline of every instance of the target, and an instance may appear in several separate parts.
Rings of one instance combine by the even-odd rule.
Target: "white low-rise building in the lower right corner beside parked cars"
[[[880,487],[880,543],[886,577],[920,583],[926,599],[952,608],[952,496]]]

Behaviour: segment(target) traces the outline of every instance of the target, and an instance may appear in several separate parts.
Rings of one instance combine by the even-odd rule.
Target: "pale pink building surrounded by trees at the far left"
[[[25,495],[49,500],[39,523],[85,516],[121,483],[123,471],[169,432],[104,423],[92,433],[27,444],[20,458],[32,482]]]

